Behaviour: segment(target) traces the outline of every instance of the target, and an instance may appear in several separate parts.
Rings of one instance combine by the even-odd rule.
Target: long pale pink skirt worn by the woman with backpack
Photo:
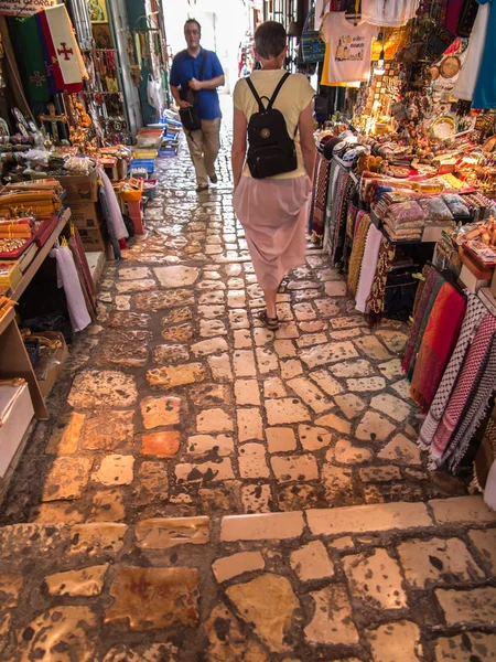
[[[241,177],[233,197],[263,290],[274,290],[289,269],[305,263],[308,201],[312,183],[294,179]]]

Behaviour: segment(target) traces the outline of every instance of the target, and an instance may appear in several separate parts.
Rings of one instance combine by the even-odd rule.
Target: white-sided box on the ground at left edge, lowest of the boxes
[[[0,478],[3,478],[34,416],[28,383],[0,385]]]

